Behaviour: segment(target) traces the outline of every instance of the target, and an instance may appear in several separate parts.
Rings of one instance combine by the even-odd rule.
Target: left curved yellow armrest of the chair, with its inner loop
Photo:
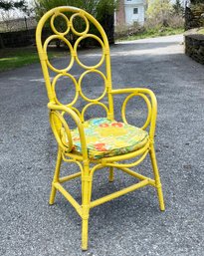
[[[77,128],[79,129],[83,156],[85,158],[88,158],[88,150],[87,150],[85,130],[84,130],[83,124],[82,124],[80,118],[78,117],[78,115],[73,110],[71,110],[70,108],[68,108],[66,106],[63,106],[63,105],[56,105],[54,103],[49,103],[48,104],[48,109],[51,111],[51,114],[52,114],[52,112],[54,114],[56,114],[57,118],[62,123],[62,124],[59,124],[59,127],[62,128],[62,125],[64,126],[64,128],[66,130],[66,133],[68,135],[69,144],[71,144],[71,145],[73,145],[73,141],[72,141],[72,135],[71,135],[71,132],[70,132],[70,128],[68,127],[67,122],[63,118],[63,115],[61,115],[59,112],[64,112],[64,113],[68,114],[75,121],[75,123],[77,125]],[[62,139],[60,139],[60,136],[57,133],[57,128],[54,126],[52,121],[51,121],[51,127],[53,129],[53,132],[54,132],[54,134],[56,136],[56,139],[57,139],[59,145],[61,146],[62,149],[65,150],[65,145],[64,145]],[[71,151],[72,150],[72,148],[71,148],[72,146],[69,146],[69,147],[70,147],[69,150]]]

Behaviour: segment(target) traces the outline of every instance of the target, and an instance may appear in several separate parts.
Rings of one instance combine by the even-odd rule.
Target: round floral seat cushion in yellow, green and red
[[[84,123],[88,154],[100,159],[134,151],[148,141],[147,131],[108,119],[92,119]],[[82,153],[78,128],[72,130],[74,151]]]

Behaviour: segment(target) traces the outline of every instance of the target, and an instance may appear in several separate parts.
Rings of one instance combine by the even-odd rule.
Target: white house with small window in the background
[[[145,0],[120,0],[118,10],[115,13],[116,25],[132,25],[138,22],[144,23]]]

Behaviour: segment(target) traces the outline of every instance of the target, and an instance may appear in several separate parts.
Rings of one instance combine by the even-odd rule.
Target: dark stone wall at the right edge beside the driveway
[[[204,35],[196,29],[185,33],[185,53],[196,62],[204,64]]]

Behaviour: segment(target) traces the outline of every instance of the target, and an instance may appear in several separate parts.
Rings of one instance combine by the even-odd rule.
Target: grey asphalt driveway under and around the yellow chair
[[[171,36],[111,47],[114,88],[145,86],[157,96],[156,151],[166,211],[159,211],[151,187],[93,209],[85,253],[72,206],[61,195],[48,205],[56,143],[40,65],[0,74],[0,255],[204,255],[204,69],[183,54],[181,42],[181,36]],[[148,168],[147,160],[139,169]],[[102,172],[96,175],[96,197],[132,183],[118,172],[109,184]],[[70,187],[80,198],[77,185]]]

